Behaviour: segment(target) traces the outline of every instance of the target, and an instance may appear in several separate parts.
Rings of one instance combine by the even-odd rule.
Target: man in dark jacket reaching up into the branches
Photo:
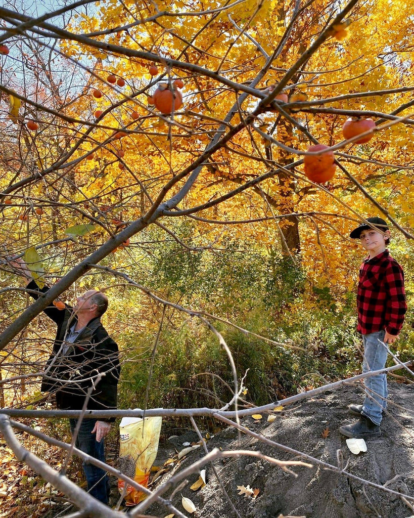
[[[27,284],[29,295],[37,299],[49,287],[39,289],[22,259],[11,262]],[[59,306],[59,305],[57,305]],[[57,324],[52,354],[43,373],[42,392],[53,392],[60,409],[110,410],[116,408],[120,363],[117,344],[106,332],[100,316],[108,308],[107,296],[90,290],[77,298],[71,308],[50,306],[45,313]],[[104,441],[114,419],[70,419],[72,434],[78,427],[77,447],[102,462]],[[101,502],[108,503],[107,473],[92,464],[83,463],[88,491]]]

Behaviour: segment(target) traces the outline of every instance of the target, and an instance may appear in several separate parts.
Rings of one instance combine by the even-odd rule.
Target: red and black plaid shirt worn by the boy
[[[369,259],[359,270],[358,331],[362,335],[386,329],[398,335],[407,311],[404,272],[388,250]]]

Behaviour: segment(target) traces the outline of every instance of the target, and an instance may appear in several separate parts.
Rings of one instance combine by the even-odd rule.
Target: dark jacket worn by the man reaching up
[[[27,289],[33,290],[29,295],[37,299],[49,287],[39,289],[36,282],[31,281]],[[45,313],[57,324],[57,333],[43,375],[41,391],[55,392],[56,404],[60,409],[80,410],[88,389],[94,384],[87,409],[115,409],[120,376],[118,346],[102,326],[99,317],[88,322],[74,343],[64,344],[64,354],[63,350],[59,351],[68,332],[68,323],[70,326],[76,323],[76,316],[73,316],[69,306],[62,310],[49,306]],[[105,374],[100,380],[97,379],[99,373]]]

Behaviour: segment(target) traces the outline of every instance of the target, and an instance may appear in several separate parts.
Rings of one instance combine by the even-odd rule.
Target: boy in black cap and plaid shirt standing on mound
[[[382,218],[368,218],[368,223],[351,232],[360,239],[369,253],[359,270],[357,294],[358,331],[364,343],[363,372],[380,370],[387,362],[387,349],[398,339],[407,310],[402,267],[390,256],[387,244],[390,231]],[[367,438],[381,435],[382,410],[387,407],[387,375],[365,378],[363,405],[350,405],[349,411],[359,416],[352,425],[339,428],[346,437]]]

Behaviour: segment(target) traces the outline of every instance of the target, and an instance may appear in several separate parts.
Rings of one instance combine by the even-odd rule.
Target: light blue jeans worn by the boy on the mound
[[[388,352],[382,345],[385,337],[385,330],[362,335],[364,343],[364,364],[362,372],[370,370],[379,370],[385,367]],[[387,408],[387,375],[378,374],[364,379],[365,382],[365,400],[362,406],[362,415],[377,425],[382,421],[382,410]]]

